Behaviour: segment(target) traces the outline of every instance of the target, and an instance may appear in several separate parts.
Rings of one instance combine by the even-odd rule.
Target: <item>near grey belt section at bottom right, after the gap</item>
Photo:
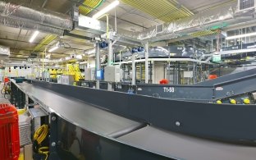
[[[199,139],[147,126],[118,138],[167,157],[190,160],[255,160],[256,147]]]

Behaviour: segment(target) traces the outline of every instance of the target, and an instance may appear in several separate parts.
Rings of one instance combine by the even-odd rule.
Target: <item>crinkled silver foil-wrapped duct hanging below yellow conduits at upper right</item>
[[[137,39],[158,41],[163,39],[173,39],[185,34],[191,34],[199,30],[207,30],[208,25],[216,25],[218,22],[231,20],[235,16],[232,7],[203,11],[194,16],[190,16],[178,21],[163,24],[162,33],[156,32],[156,27],[137,34]]]

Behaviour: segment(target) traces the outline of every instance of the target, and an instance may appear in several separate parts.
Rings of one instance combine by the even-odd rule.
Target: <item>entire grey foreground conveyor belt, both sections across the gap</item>
[[[256,158],[256,147],[254,146],[226,144],[181,135],[154,126],[145,126],[142,122],[117,116],[38,86],[27,83],[16,84],[14,81],[12,83],[37,103],[43,107],[49,107],[66,121],[115,142],[128,144],[135,149],[143,149],[175,159],[254,160]],[[126,130],[125,134],[124,130]]]

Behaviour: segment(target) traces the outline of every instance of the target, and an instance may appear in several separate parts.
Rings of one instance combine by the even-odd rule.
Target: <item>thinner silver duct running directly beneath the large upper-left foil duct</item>
[[[17,20],[10,17],[0,16],[0,25],[21,28],[25,30],[39,30],[45,33],[63,35],[64,30],[53,28],[47,25],[35,24],[33,21]]]

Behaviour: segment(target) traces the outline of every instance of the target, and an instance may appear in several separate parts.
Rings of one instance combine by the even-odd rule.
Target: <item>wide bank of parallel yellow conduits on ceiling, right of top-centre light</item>
[[[194,15],[175,0],[122,0],[122,2],[165,22]]]

